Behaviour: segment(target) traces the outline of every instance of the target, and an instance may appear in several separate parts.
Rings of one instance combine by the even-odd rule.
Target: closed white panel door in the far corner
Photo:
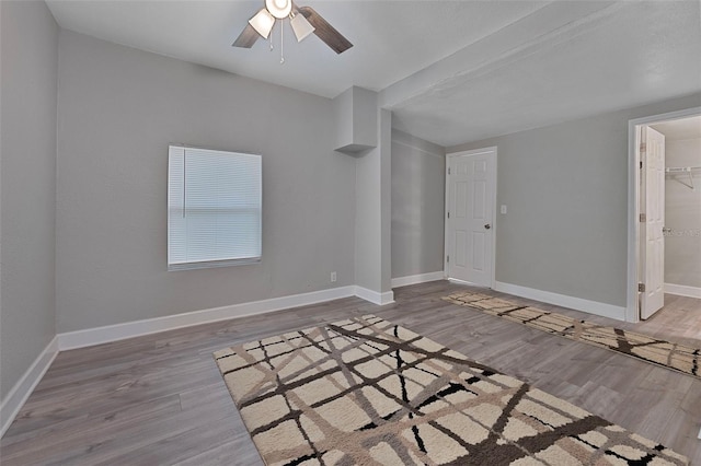
[[[495,150],[448,158],[446,270],[449,278],[492,286],[495,185]]]

